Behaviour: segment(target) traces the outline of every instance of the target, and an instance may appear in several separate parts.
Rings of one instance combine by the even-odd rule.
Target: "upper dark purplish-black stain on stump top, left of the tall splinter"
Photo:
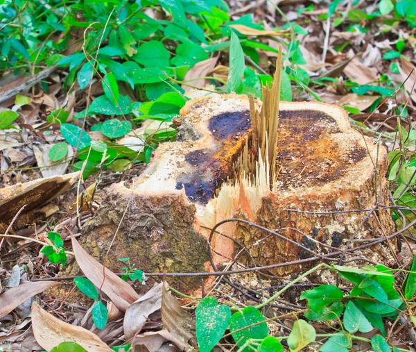
[[[216,115],[209,121],[209,129],[217,140],[223,141],[245,133],[250,124],[250,111],[232,111]]]

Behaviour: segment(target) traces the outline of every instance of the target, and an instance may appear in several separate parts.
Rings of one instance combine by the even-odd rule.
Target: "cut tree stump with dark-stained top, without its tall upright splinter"
[[[255,108],[261,109],[260,101]],[[228,94],[189,101],[180,112],[177,142],[159,145],[129,185],[110,187],[84,228],[83,247],[102,262],[114,237],[106,261],[114,271],[121,267],[117,258],[127,257],[144,271],[196,272],[210,270],[209,229],[231,217],[277,230],[316,254],[343,249],[355,232],[356,239],[392,233],[389,210],[372,212],[362,226],[368,212],[349,212],[388,204],[385,148],[352,129],[338,106],[282,102],[279,110],[277,181],[270,185],[267,162],[259,162],[254,177],[233,181],[233,165],[252,133],[248,98]],[[313,256],[245,224],[217,230],[246,246],[257,265]],[[239,250],[218,234],[211,246],[217,264]],[[385,248],[365,256],[376,262],[389,257]],[[298,270],[293,265],[275,272]]]

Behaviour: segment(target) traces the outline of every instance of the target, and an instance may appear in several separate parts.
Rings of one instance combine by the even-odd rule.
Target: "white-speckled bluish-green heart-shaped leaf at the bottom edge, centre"
[[[214,297],[202,299],[196,308],[196,338],[200,352],[209,352],[221,340],[229,326],[231,310],[218,305]]]

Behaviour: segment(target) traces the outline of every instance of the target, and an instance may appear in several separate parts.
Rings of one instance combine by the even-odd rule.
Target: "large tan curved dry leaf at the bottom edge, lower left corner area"
[[[46,351],[62,342],[76,342],[88,352],[112,351],[91,331],[53,317],[37,303],[32,305],[32,328],[37,343]]]

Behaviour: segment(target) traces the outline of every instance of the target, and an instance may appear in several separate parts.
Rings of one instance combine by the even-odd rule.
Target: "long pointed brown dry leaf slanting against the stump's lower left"
[[[96,287],[102,286],[103,292],[107,294],[119,310],[125,312],[130,304],[139,299],[139,294],[137,294],[128,283],[119,278],[119,276],[116,276],[116,274],[109,269],[105,268],[104,276],[103,265],[92,258],[73,235],[71,235],[71,241],[76,262],[85,276],[87,276]]]

